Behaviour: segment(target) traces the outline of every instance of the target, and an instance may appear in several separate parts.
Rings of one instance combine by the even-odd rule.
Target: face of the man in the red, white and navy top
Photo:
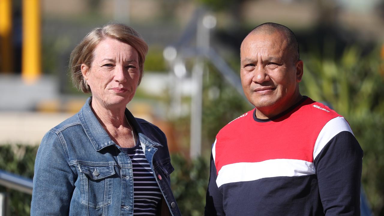
[[[300,96],[298,83],[303,74],[303,61],[279,31],[272,34],[251,33],[240,48],[240,77],[245,96],[259,110],[284,111]],[[275,113],[279,114],[279,113]]]

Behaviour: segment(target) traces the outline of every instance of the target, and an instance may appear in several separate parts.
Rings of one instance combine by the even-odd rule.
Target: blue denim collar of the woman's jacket
[[[91,141],[93,147],[96,151],[100,151],[107,146],[116,145],[116,143],[111,140],[108,133],[104,130],[103,126],[101,126],[99,120],[94,115],[90,106],[91,101],[92,96],[87,99],[86,103],[79,111],[78,116],[81,125],[83,125],[84,131]],[[151,140],[146,135],[146,131],[142,130],[142,127],[139,125],[139,123],[137,123],[136,118],[134,118],[132,113],[127,108],[125,109],[125,115],[127,116],[129,122],[132,123],[132,126],[139,135],[140,141],[144,143],[144,145],[148,147],[162,146],[161,144]]]

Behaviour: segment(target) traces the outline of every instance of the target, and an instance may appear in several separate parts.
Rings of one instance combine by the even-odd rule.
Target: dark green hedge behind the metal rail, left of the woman
[[[36,153],[37,146],[0,145],[0,169],[33,178]],[[0,192],[7,193],[10,215],[30,215],[31,195],[2,186],[0,186]]]

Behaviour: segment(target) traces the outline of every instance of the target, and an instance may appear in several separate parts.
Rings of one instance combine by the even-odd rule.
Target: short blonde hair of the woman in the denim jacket
[[[70,73],[73,85],[84,93],[90,93],[91,88],[84,81],[81,73],[81,65],[85,64],[91,68],[96,46],[106,38],[114,38],[123,43],[127,43],[136,49],[139,54],[139,83],[143,76],[145,56],[148,52],[148,45],[133,28],[119,23],[108,23],[102,28],[94,28],[83,40],[73,49],[70,56]]]

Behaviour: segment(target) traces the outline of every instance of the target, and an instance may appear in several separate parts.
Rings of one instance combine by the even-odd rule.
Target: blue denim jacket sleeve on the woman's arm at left
[[[74,173],[67,158],[58,135],[48,131],[36,155],[31,216],[68,215]]]

